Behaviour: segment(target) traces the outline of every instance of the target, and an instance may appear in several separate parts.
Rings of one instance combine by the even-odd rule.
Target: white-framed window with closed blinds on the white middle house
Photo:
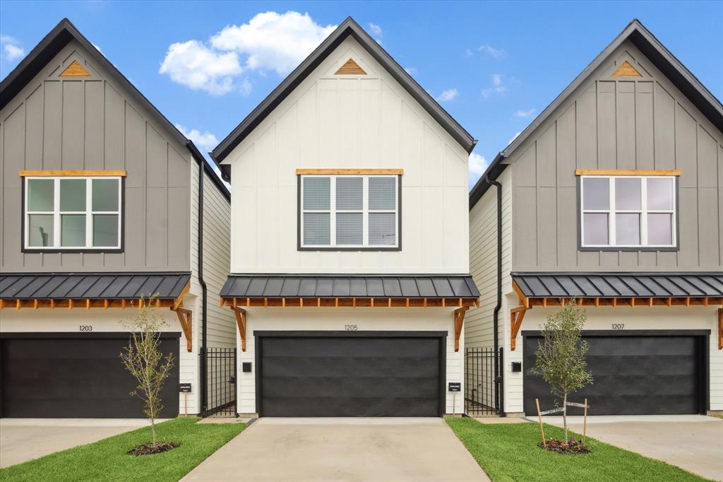
[[[395,249],[398,175],[301,175],[299,248]]]

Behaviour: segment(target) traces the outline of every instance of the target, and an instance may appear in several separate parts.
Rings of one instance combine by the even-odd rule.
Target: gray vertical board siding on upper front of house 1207
[[[610,77],[627,59],[643,77]],[[510,156],[514,271],[720,271],[723,134],[623,43]],[[581,252],[575,169],[680,169],[680,250]]]

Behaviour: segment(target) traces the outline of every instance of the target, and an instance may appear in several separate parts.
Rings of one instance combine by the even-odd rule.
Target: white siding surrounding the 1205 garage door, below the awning
[[[374,310],[373,317],[369,310]],[[250,308],[247,316],[247,351],[239,350],[239,365],[242,362],[256,364],[254,331],[341,331],[345,324],[356,324],[359,330],[370,331],[447,331],[445,390],[450,381],[463,383],[463,348],[458,352],[454,350],[453,311],[445,308]],[[463,334],[460,346],[464,346]],[[257,369],[254,366],[251,373],[239,370],[239,413],[257,412]],[[446,392],[446,413],[463,412],[463,393],[464,386],[456,394]]]

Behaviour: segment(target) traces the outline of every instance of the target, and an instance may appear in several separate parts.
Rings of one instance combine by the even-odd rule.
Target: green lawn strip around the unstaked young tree
[[[0,481],[178,481],[244,428],[243,423],[196,423],[175,418],[156,426],[159,440],[180,447],[161,454],[128,455],[150,441],[150,428],[139,428],[93,444],[30,460],[0,470]]]

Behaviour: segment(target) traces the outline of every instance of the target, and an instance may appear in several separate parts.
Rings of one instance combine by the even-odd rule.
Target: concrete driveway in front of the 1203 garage
[[[90,444],[147,423],[145,418],[0,418],[0,467]]]

